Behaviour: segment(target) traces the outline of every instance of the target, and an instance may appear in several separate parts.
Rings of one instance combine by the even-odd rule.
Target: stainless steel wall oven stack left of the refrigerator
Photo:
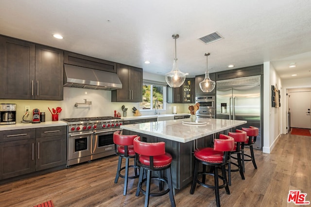
[[[200,104],[199,110],[195,113],[197,117],[215,118],[215,96],[197,96],[195,102]]]

